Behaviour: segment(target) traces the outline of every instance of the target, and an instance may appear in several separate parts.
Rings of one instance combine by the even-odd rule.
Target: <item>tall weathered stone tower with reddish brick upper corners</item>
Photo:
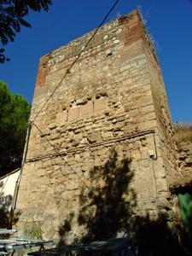
[[[17,202],[20,229],[38,222],[44,237],[68,242],[170,213],[177,171],[160,64],[140,15],[102,26],[69,69],[93,32],[40,60],[31,120],[60,86],[32,125]]]

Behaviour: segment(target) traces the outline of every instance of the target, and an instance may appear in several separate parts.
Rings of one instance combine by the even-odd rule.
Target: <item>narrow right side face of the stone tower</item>
[[[172,118],[160,70],[160,64],[156,58],[153,48],[148,47],[148,44],[150,45],[151,42],[148,41],[147,38],[145,38],[144,42],[151,91],[154,99],[154,109],[156,113],[158,129],[157,141],[161,148],[158,158],[162,161],[162,165],[164,166],[164,172],[161,172],[162,176],[160,179],[164,178],[166,182],[166,187],[161,187],[160,189],[159,199],[165,208],[171,209],[172,195],[170,193],[170,185],[172,183],[172,178],[178,176],[177,146],[174,140],[174,128],[172,125]],[[158,182],[159,181],[157,181],[157,183]]]

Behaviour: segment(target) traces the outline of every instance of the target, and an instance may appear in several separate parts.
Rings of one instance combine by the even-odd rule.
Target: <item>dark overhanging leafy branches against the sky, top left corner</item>
[[[15,33],[20,32],[20,26],[31,27],[24,20],[29,10],[48,11],[51,0],[0,0],[0,41],[3,45],[14,42]],[[0,48],[0,62],[9,61]]]

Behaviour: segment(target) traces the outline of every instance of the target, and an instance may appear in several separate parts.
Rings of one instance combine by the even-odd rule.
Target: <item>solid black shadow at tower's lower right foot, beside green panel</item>
[[[140,256],[184,256],[185,248],[178,240],[177,231],[167,222],[165,215],[151,220],[147,217],[134,219],[134,241]],[[189,253],[189,252],[188,252]]]

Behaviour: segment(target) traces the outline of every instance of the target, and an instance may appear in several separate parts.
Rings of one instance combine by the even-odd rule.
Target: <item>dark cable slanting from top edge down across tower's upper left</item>
[[[32,120],[32,123],[35,121],[35,119],[37,119],[38,115],[42,112],[42,110],[44,109],[44,107],[47,105],[47,103],[49,102],[49,99],[54,95],[55,91],[60,87],[62,81],[67,77],[67,74],[70,73],[70,70],[72,69],[72,67],[74,66],[74,64],[79,60],[79,57],[82,55],[82,53],[84,52],[84,49],[86,49],[86,47],[88,46],[88,44],[90,44],[90,41],[95,37],[96,32],[98,32],[98,30],[100,29],[100,27],[103,25],[103,23],[105,22],[105,20],[108,19],[108,16],[111,14],[111,12],[113,11],[113,9],[116,7],[117,3],[119,2],[119,0],[116,0],[115,3],[113,3],[113,6],[111,7],[111,9],[109,9],[108,14],[105,15],[104,19],[102,20],[102,22],[99,24],[99,26],[97,26],[95,32],[93,33],[93,35],[90,37],[90,39],[88,40],[88,42],[84,45],[84,48],[80,51],[79,55],[77,56],[77,58],[73,61],[73,63],[71,64],[71,66],[69,68],[67,68],[67,72],[64,74],[64,76],[62,77],[61,81],[59,82],[59,84],[57,84],[55,86],[55,89],[51,92],[51,94],[49,95],[48,99],[46,102],[44,102],[44,105],[42,106],[42,108],[40,108],[40,110],[38,111],[37,115],[34,117],[34,119]]]

